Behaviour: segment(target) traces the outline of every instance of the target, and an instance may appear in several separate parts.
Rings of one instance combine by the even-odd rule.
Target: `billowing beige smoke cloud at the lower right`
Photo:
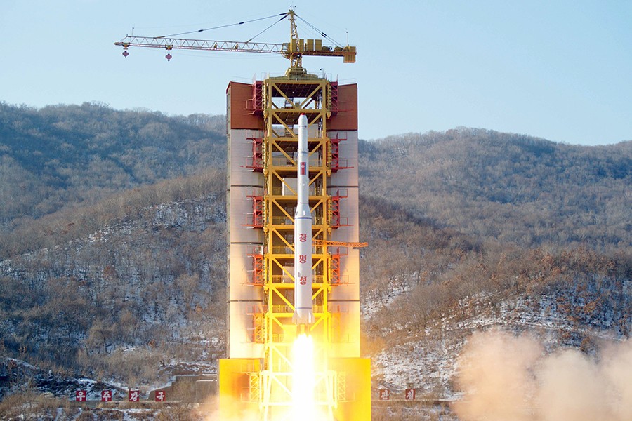
[[[457,378],[462,421],[631,421],[632,341],[603,347],[598,359],[575,349],[546,355],[526,336],[474,333]]]

